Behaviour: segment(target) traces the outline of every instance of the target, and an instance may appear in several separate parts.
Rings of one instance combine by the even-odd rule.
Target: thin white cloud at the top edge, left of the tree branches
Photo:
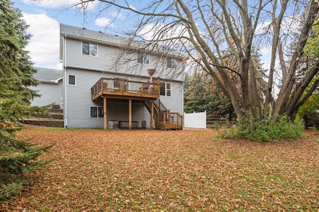
[[[61,6],[71,6],[71,5],[76,5],[82,2],[82,0],[36,0],[36,1],[31,1],[31,0],[22,0],[23,3],[26,4],[36,4],[41,7],[45,8],[57,8]],[[96,6],[97,1],[89,1],[85,2],[83,5],[78,5],[76,7],[85,7],[85,9],[93,9]]]

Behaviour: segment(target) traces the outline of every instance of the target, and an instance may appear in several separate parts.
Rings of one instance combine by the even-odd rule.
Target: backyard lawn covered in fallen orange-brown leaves
[[[318,211],[319,132],[294,142],[220,140],[214,130],[27,127],[56,145],[7,211]]]

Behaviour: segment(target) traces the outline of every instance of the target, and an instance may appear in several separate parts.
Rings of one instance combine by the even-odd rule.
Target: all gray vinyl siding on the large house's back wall
[[[95,43],[94,41],[90,41]],[[65,43],[63,43],[64,45]],[[124,52],[118,47],[98,43],[98,56],[82,55],[81,40],[66,39],[64,55],[64,79],[68,75],[76,76],[76,86],[64,83],[64,118],[69,128],[102,128],[103,118],[90,118],[90,106],[102,106],[103,100],[91,100],[91,87],[103,78],[124,78],[132,81],[147,82],[150,76],[147,69],[156,69],[153,78],[160,77],[161,82],[171,83],[171,97],[160,96],[160,101],[171,112],[183,114],[182,66],[176,69],[166,68],[166,58],[150,54],[150,64],[138,64],[136,52]],[[64,46],[65,47],[65,46]],[[120,59],[119,59],[120,58]],[[180,63],[180,65],[182,65]],[[107,122],[109,120],[129,120],[129,101],[107,99]],[[132,101],[132,121],[146,120],[151,127],[151,114],[142,101]]]

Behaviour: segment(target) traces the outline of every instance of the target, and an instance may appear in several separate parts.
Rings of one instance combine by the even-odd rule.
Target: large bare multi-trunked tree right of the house
[[[318,16],[318,0],[153,0],[141,8],[127,1],[99,1],[100,13],[117,9],[135,15],[135,28],[126,32],[127,36],[147,41],[148,48],[178,50],[188,63],[209,73],[231,99],[237,116],[242,116],[244,109],[255,120],[262,119],[262,111],[271,106],[272,115],[287,113],[294,119],[298,108],[318,85],[316,81],[304,95],[319,71],[319,60],[303,79],[296,77],[299,59]],[[293,54],[287,58],[291,33],[297,32],[292,28],[294,25],[298,26],[300,36]],[[263,46],[271,49],[266,77],[261,75],[252,56]],[[229,66],[227,58],[234,57],[237,64]],[[276,81],[275,73],[282,73],[280,82]],[[230,77],[232,74],[239,77],[239,86]],[[280,83],[276,101],[275,82]]]

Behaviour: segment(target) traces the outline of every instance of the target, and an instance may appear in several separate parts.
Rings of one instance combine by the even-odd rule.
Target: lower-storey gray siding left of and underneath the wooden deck
[[[103,100],[91,100],[91,87],[101,77],[111,77],[94,71],[68,69],[66,75],[76,75],[76,86],[67,86],[65,114],[69,128],[102,128],[103,118],[91,118],[90,106],[102,106]],[[129,100],[107,99],[107,122],[109,120],[129,120]],[[132,101],[132,121],[146,120],[151,127],[151,115],[141,101]]]

